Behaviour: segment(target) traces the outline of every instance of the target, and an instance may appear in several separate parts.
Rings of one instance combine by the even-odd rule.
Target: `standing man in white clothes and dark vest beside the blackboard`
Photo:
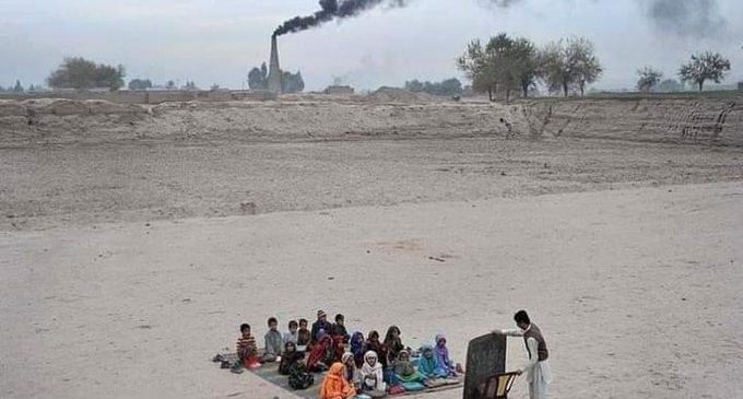
[[[532,324],[526,310],[519,310],[514,315],[514,320],[518,329],[495,330],[493,332],[510,337],[523,337],[523,341],[529,353],[529,361],[518,371],[519,374],[527,373],[530,399],[545,399],[547,385],[552,383],[552,371],[547,359],[550,353],[547,344],[536,325]]]

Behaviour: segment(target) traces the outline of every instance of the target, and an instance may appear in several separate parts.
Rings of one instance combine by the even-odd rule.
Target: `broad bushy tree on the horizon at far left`
[[[81,57],[66,58],[47,78],[47,84],[55,89],[108,87],[114,91],[123,86],[125,75],[123,66],[114,68]]]

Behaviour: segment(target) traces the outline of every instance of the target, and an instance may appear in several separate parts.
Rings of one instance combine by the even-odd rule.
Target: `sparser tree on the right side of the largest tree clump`
[[[603,72],[593,54],[593,44],[582,37],[552,42],[542,50],[544,79],[551,91],[562,90],[567,97],[571,87],[580,90],[593,83]]]

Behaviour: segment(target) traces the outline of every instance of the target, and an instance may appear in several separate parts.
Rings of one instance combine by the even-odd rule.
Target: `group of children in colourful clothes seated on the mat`
[[[439,386],[462,373],[449,357],[446,338],[436,336],[435,344],[411,350],[402,342],[400,329],[391,326],[385,340],[377,331],[366,338],[361,331],[349,335],[343,315],[335,322],[318,310],[317,320],[288,322],[288,331],[279,332],[276,318],[268,320],[263,351],[258,350],[250,326],[240,326],[237,340],[238,361],[234,371],[256,368],[279,362],[279,372],[288,375],[290,385],[306,388],[312,384],[311,373],[326,372],[320,385],[321,399],[347,399],[357,394],[381,397],[400,390],[418,390]]]

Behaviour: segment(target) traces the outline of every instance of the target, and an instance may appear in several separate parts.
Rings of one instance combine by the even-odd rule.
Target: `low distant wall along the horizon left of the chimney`
[[[268,91],[119,91],[119,92],[85,92],[59,91],[43,93],[0,93],[0,99],[32,99],[32,98],[63,98],[63,99],[105,99],[118,104],[161,104],[168,102],[228,102],[228,101],[270,101],[275,99],[275,93]]]

